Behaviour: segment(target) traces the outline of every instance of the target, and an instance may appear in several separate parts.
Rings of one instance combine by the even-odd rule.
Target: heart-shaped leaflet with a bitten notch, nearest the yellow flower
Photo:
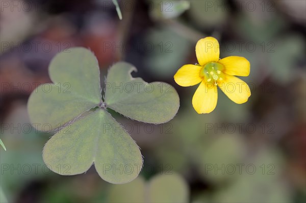
[[[133,71],[137,69],[124,62],[110,68],[105,85],[106,106],[145,123],[170,121],[180,106],[175,89],[165,82],[147,83],[133,78]]]

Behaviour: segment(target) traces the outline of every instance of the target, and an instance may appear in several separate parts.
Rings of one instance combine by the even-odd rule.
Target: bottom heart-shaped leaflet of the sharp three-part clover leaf
[[[134,180],[142,167],[137,144],[105,109],[57,132],[46,143],[43,160],[61,175],[84,173],[94,163],[99,176],[115,184]]]

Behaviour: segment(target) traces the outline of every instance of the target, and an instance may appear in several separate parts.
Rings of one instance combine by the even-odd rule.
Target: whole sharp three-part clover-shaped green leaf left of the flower
[[[164,123],[177,112],[179,96],[167,83],[132,78],[130,73],[136,68],[117,63],[109,70],[103,101],[93,53],[81,47],[69,51],[57,54],[50,63],[49,75],[54,83],[38,86],[28,102],[33,126],[56,132],[45,144],[43,160],[61,175],[83,173],[94,163],[105,181],[130,182],[142,168],[142,156],[108,108],[138,121]],[[124,88],[127,84],[130,88],[137,85],[139,89],[116,92],[110,84]],[[147,91],[147,85],[152,89]]]

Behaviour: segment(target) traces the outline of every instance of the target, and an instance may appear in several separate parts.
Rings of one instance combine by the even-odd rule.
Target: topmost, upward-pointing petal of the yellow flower
[[[220,55],[218,40],[213,37],[200,39],[195,45],[195,54],[201,66],[208,62],[217,62]]]

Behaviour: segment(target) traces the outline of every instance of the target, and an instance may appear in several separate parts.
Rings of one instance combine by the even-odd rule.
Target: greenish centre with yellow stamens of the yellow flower
[[[223,80],[222,70],[224,66],[218,62],[209,62],[202,67],[200,76],[207,82],[212,82],[217,85],[217,80]]]

